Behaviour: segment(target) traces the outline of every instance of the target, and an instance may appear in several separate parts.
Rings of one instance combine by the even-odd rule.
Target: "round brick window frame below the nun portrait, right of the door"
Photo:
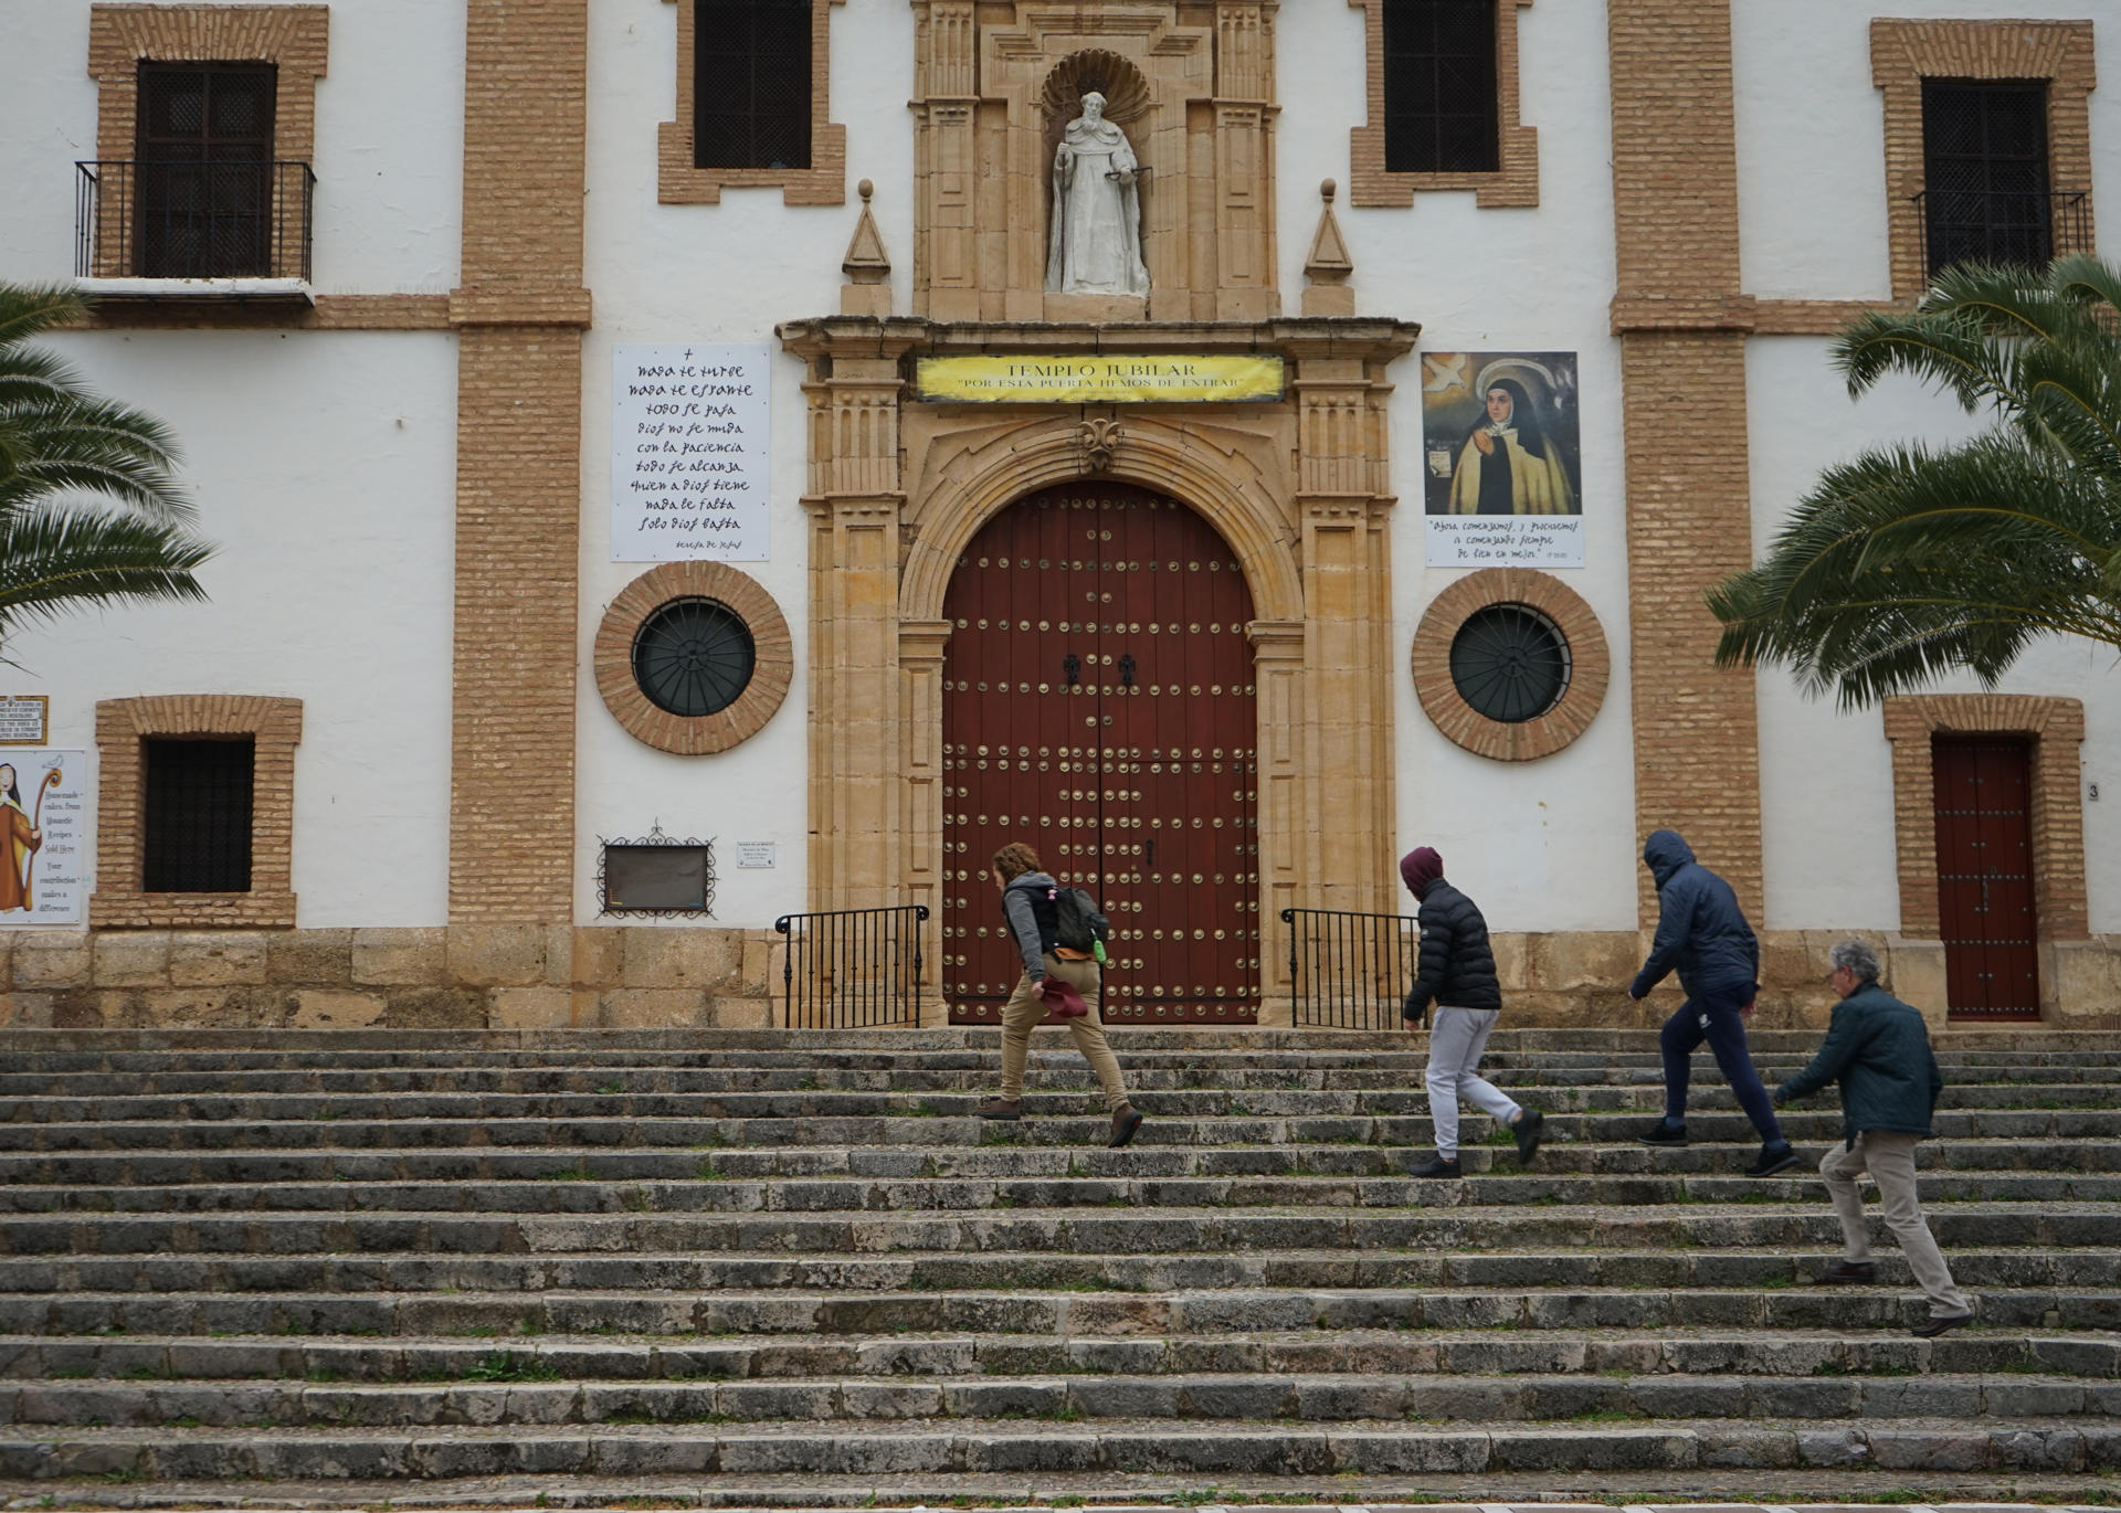
[[[1506,725],[1466,704],[1451,678],[1451,642],[1495,604],[1523,604],[1555,623],[1570,646],[1570,687],[1546,714]],[[1589,604],[1561,578],[1531,568],[1483,568],[1438,593],[1415,629],[1415,693],[1444,735],[1478,756],[1538,761],[1582,735],[1606,701],[1612,651]]]

